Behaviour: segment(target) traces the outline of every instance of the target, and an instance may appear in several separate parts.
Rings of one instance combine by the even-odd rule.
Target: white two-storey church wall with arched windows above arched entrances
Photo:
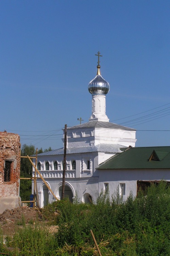
[[[72,170],[71,163],[76,161],[76,170]],[[87,170],[86,161],[90,161],[91,170]],[[45,170],[45,163],[49,162],[49,170]],[[57,161],[60,170],[54,170],[54,162]],[[66,170],[66,185],[70,187],[73,197],[77,193],[78,199],[84,201],[84,195],[89,194],[96,201],[98,197],[98,170],[95,167],[99,165],[98,153],[79,153],[79,154],[68,154],[67,158],[67,170]],[[84,161],[84,169],[82,162]],[[40,173],[50,186],[53,193],[59,197],[59,188],[62,186],[63,178],[63,155],[49,155],[49,156],[39,156],[38,161],[41,163]],[[35,170],[33,168],[33,176]],[[44,192],[43,192],[44,182],[41,179],[37,179],[37,189],[39,195],[40,207],[44,206]],[[46,191],[47,192],[47,191]],[[33,183],[32,183],[32,193],[33,193]],[[49,202],[55,200],[53,195],[48,192]]]

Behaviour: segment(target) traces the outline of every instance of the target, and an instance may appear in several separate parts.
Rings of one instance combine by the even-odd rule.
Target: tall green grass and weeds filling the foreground
[[[42,214],[59,226],[57,233],[30,224],[8,238],[7,246],[16,248],[11,255],[18,256],[98,255],[92,229],[102,256],[169,256],[170,188],[162,181],[151,185],[145,195],[130,194],[123,202],[115,193],[110,201],[108,191],[95,204],[53,202]]]

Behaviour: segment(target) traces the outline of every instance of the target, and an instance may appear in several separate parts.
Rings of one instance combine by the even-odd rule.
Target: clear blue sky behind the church
[[[62,147],[64,125],[91,115],[100,51],[110,122],[139,130],[136,146],[170,145],[170,131],[141,131],[170,130],[169,10],[169,0],[0,1],[0,131]]]

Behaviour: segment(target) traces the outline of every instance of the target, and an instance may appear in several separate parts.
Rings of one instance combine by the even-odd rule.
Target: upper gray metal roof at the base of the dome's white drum
[[[89,121],[88,123],[84,123],[81,125],[75,125],[72,127],[68,127],[67,129],[82,129],[82,128],[108,128],[108,129],[120,129],[120,130],[125,130],[125,131],[136,131],[133,128],[117,125],[114,123],[110,122],[102,122],[102,121]]]

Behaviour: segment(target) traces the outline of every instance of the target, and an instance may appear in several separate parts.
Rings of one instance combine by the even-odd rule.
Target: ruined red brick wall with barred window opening
[[[20,147],[18,134],[0,132],[0,197],[19,196]],[[7,163],[10,165],[10,172],[8,169],[6,179]]]

